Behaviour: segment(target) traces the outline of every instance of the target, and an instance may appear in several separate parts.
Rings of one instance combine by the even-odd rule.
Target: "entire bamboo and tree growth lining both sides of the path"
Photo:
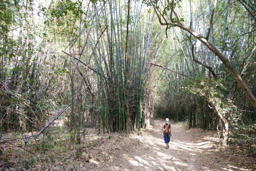
[[[64,119],[80,143],[154,115],[255,141],[253,1],[0,2],[2,133]]]

